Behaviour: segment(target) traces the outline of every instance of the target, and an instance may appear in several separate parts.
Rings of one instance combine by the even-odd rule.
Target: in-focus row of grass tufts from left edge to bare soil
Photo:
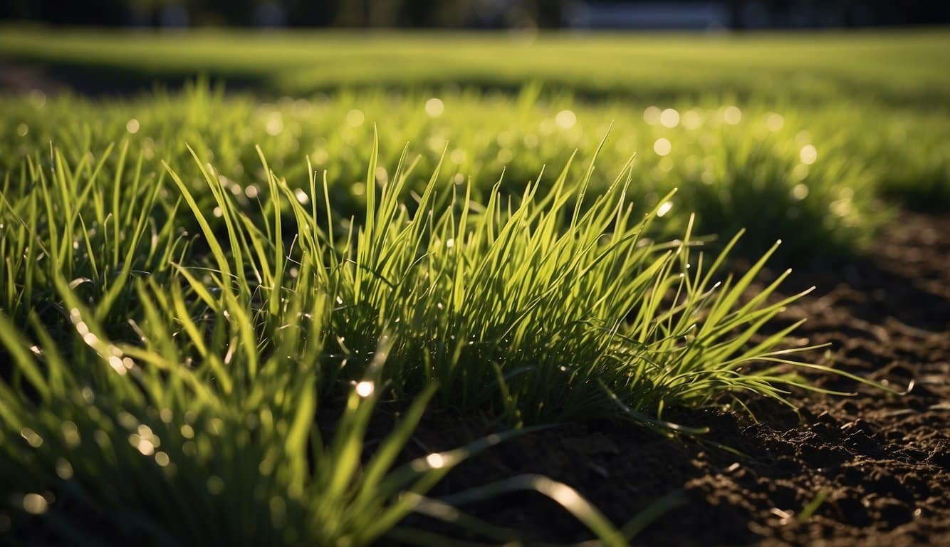
[[[274,350],[275,332],[315,320],[309,304],[297,311],[303,318],[288,315],[288,295],[323,294],[333,307],[319,320],[328,340],[321,391],[361,377],[380,336],[390,332],[397,342],[386,378],[397,396],[438,383],[444,405],[504,413],[516,423],[602,413],[600,384],[637,411],[701,403],[749,387],[742,372],[748,361],[781,341],[769,337],[737,357],[781,310],[766,304],[777,285],[740,303],[764,260],[732,281],[719,272],[725,252],[714,259],[697,253],[691,229],[670,242],[651,238],[660,210],[635,213],[630,163],[593,199],[585,199],[593,166],[573,183],[565,168],[549,189],[535,182],[517,199],[496,190],[485,204],[470,197],[470,186],[461,197],[437,169],[407,203],[411,166],[401,162],[377,196],[374,152],[365,220],[343,233],[316,206],[333,209],[326,179],[318,184],[312,172],[301,194],[264,165],[261,222],[200,161],[215,215],[170,167],[171,180],[158,175],[139,187],[98,184],[95,169],[86,169],[80,183],[63,164],[52,171],[55,190],[36,169],[38,183],[23,179],[17,189],[9,182],[4,276],[16,290],[8,292],[5,312],[25,325],[30,314],[43,317],[36,310],[59,310],[44,324],[62,324],[67,307],[53,297],[62,278],[84,295],[109,336],[141,339],[135,323],[154,310],[130,281],[138,275],[158,299],[153,308],[178,318],[180,329],[168,335],[190,335],[191,359],[208,359],[210,346],[240,344],[253,364],[258,352]],[[137,215],[104,214],[126,191],[124,202],[143,197]],[[168,191],[178,195],[175,205],[156,205],[154,197]],[[49,220],[40,220],[41,209]],[[164,221],[150,224],[155,217]],[[185,236],[181,223],[198,226],[200,238]],[[224,316],[230,293],[248,307],[243,319],[251,326]],[[198,335],[205,330],[207,336]],[[217,366],[227,388],[233,381]]]

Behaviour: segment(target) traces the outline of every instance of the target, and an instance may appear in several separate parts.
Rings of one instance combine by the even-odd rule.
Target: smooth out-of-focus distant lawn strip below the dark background
[[[0,56],[149,83],[203,73],[278,93],[347,86],[520,88],[667,102],[844,97],[945,104],[945,30],[711,34],[106,31],[5,28]],[[845,95],[843,95],[843,93]]]

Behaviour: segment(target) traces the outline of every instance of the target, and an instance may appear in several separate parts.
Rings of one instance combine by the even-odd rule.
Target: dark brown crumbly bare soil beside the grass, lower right
[[[908,394],[819,374],[812,376],[818,386],[857,395],[795,393],[799,414],[754,400],[758,422],[725,409],[665,416],[709,425],[712,433],[698,439],[610,421],[561,425],[488,450],[434,494],[542,474],[577,488],[623,523],[679,492],[682,504],[639,534],[638,545],[950,545],[948,236],[950,217],[905,213],[864,259],[813,265],[785,285],[817,286],[785,315],[807,317],[800,331],[812,343],[830,344],[813,352],[812,362],[899,390],[913,382]],[[414,442],[425,453],[484,433],[471,420],[435,414]],[[536,493],[463,509],[523,531],[528,542],[590,538]],[[446,530],[423,518],[407,524]]]

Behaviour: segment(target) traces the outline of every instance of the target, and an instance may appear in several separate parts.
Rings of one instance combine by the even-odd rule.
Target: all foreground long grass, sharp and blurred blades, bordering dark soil
[[[3,191],[6,483],[66,537],[366,544],[417,505],[403,492],[424,495],[501,439],[390,471],[433,394],[512,425],[626,415],[676,427],[663,407],[742,389],[781,398],[798,384],[771,366],[787,361],[776,348],[793,327],[747,344],[784,304],[766,303],[778,282],[740,303],[765,257],[733,281],[689,233],[642,237],[656,212],[633,216],[629,165],[586,209],[593,166],[574,182],[565,168],[518,205],[442,193],[435,173],[410,209],[404,162],[368,194],[365,221],[339,233],[301,204],[329,200],[313,172],[301,199],[265,162],[257,224],[196,156],[216,230],[175,167],[148,177],[126,150],[114,175],[104,158],[70,165],[54,151]],[[373,151],[368,188],[376,167]],[[416,403],[361,464],[364,401],[380,393]],[[324,444],[317,401],[339,397],[349,402]],[[622,541],[566,486],[497,488],[525,484]],[[186,491],[191,501],[170,501]],[[77,519],[87,511],[108,526]],[[253,514],[271,521],[241,517]]]

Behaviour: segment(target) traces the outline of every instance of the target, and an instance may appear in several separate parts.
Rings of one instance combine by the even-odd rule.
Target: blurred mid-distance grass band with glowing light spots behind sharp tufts
[[[562,165],[574,150],[590,159],[613,123],[600,161],[621,165],[636,156],[631,192],[639,198],[637,212],[646,213],[679,189],[671,201],[673,221],[665,224],[669,229],[662,236],[681,234],[694,213],[700,235],[728,240],[749,228],[742,251],[750,255],[765,252],[776,239],[787,239],[781,257],[787,262],[863,249],[888,217],[886,180],[895,184],[909,184],[900,181],[912,177],[934,180],[932,191],[920,188],[931,203],[946,186],[939,175],[940,163],[910,154],[902,162],[908,166],[913,161],[915,166],[904,169],[902,179],[890,178],[887,173],[897,171],[900,161],[885,162],[881,154],[871,153],[879,149],[877,144],[865,142],[864,150],[845,137],[843,127],[858,123],[857,110],[838,111],[812,126],[795,110],[779,109],[782,114],[761,105],[738,109],[710,100],[671,107],[668,111],[675,110],[676,123],[667,127],[658,121],[656,106],[548,102],[538,93],[529,87],[516,99],[444,96],[432,110],[434,116],[426,111],[427,95],[360,93],[333,100],[259,104],[248,96],[223,97],[204,85],[183,96],[162,94],[104,104],[69,97],[41,106],[35,100],[33,104],[29,99],[10,100],[6,115],[0,115],[11,129],[5,146],[9,152],[0,157],[0,164],[13,168],[23,156],[47,146],[44,140],[49,135],[63,143],[66,158],[73,162],[82,160],[85,151],[101,155],[110,143],[128,139],[130,154],[141,151],[146,159],[181,164],[182,176],[188,179],[199,175],[187,161],[183,143],[189,142],[214,160],[222,175],[241,179],[260,170],[257,144],[292,184],[306,178],[304,159],[309,156],[315,167],[331,174],[334,213],[360,217],[366,187],[360,181],[365,155],[359,151],[371,145],[372,123],[381,129],[380,181],[390,177],[387,169],[410,142],[410,157],[418,156],[418,168],[425,171],[435,168],[445,150],[445,175],[460,187],[471,178],[472,198],[480,201],[498,179],[503,179],[505,194],[518,196],[545,163]],[[497,116],[480,120],[484,108]],[[921,154],[939,154],[945,146],[941,135],[939,130],[928,133],[921,141]],[[668,150],[660,148],[663,143]],[[116,158],[113,154],[105,161],[107,172],[115,172]],[[889,155],[886,159],[892,160]],[[593,191],[605,190],[612,177],[607,171],[595,171]],[[257,186],[232,189],[253,194]],[[206,190],[193,190],[199,202],[214,207]],[[417,184],[413,190],[422,188]]]

